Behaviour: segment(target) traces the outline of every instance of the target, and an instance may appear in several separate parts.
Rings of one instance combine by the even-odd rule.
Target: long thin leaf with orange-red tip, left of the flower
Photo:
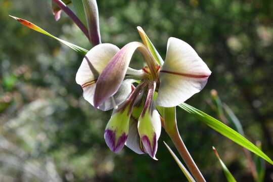
[[[11,15],[9,15],[9,16],[14,18],[15,20],[19,21],[22,25],[25,25],[26,27],[28,27],[28,28],[30,28],[32,30],[35,30],[35,31],[40,32],[40,33],[45,34],[45,35],[48,35],[48,36],[50,36],[50,37],[64,43],[65,45],[67,45],[69,48],[73,49],[77,53],[85,55],[88,52],[86,49],[83,49],[83,48],[79,47],[78,45],[75,45],[75,44],[70,43],[68,41],[62,40],[62,39],[50,34],[49,32],[43,30],[42,28],[38,27],[37,25],[35,25],[35,24],[33,24],[33,23],[31,23],[31,22],[29,22],[27,20],[17,18],[17,17],[11,16]]]

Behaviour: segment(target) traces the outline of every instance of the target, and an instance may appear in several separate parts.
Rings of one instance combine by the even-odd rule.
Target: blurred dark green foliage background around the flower
[[[170,36],[187,41],[212,75],[190,105],[218,118],[208,103],[216,89],[240,119],[246,137],[273,158],[273,1],[99,0],[103,42],[119,48],[141,41],[142,26],[164,58]],[[0,181],[186,181],[163,145],[157,158],[104,142],[111,111],[94,110],[75,82],[82,56],[23,27],[27,19],[65,40],[92,48],[63,13],[56,22],[51,1],[0,1]],[[178,127],[208,181],[225,181],[211,149],[238,181],[253,181],[243,150],[183,110]],[[273,181],[266,163],[264,181]]]

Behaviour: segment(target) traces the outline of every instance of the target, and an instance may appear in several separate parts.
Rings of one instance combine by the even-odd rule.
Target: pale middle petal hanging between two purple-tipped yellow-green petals
[[[125,145],[136,154],[144,154],[140,148],[140,134],[138,131],[138,120],[130,119],[129,132]]]

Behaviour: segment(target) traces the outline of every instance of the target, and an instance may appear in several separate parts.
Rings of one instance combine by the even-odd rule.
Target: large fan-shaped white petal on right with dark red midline
[[[174,107],[200,92],[211,71],[187,42],[169,38],[156,104]]]

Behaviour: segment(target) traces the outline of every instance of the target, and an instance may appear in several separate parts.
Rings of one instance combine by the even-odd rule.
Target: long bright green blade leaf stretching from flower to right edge
[[[209,127],[214,129],[215,131],[221,133],[226,138],[229,138],[232,141],[234,141],[235,143],[245,147],[249,151],[260,156],[261,158],[263,158],[264,160],[266,160],[267,162],[269,162],[270,164],[273,165],[273,161],[267,155],[265,155],[258,147],[256,147],[254,144],[249,142],[246,138],[244,138],[244,136],[242,136],[241,134],[239,134],[238,132],[236,132],[235,130],[230,128],[229,126],[226,126],[225,124],[218,121],[217,119],[211,117],[210,115],[208,115],[208,114],[206,114],[206,113],[204,113],[204,112],[202,112],[202,111],[200,111],[200,110],[198,110],[186,103],[182,103],[182,104],[178,105],[178,107],[180,107],[181,109],[185,110],[186,112],[192,114],[193,116],[197,117],[200,121],[204,122]]]

